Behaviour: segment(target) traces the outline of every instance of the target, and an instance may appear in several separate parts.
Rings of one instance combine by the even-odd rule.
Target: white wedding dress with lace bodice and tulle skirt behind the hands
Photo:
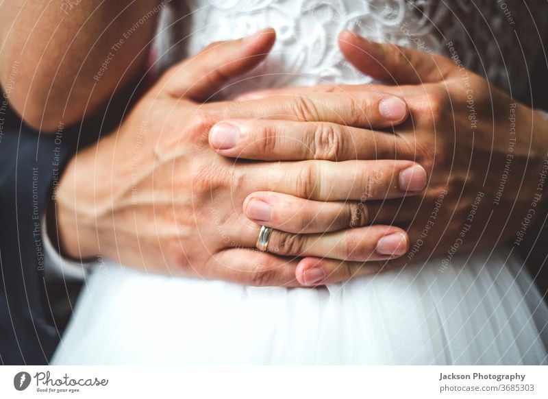
[[[370,82],[343,62],[336,47],[336,34],[353,29],[427,51],[442,51],[453,41],[465,50],[468,66],[514,94],[523,91],[508,77],[521,71],[516,56],[507,54],[512,51],[505,52],[519,36],[508,12],[493,1],[476,1],[481,13],[466,10],[468,1],[451,2],[451,10],[440,3],[171,1],[160,31],[188,8],[192,14],[181,25],[189,35],[164,53],[177,32],[184,34],[175,25],[171,36],[162,34],[159,62],[174,62],[181,49],[192,54],[211,41],[273,26],[278,39],[272,55],[253,71],[256,78],[230,86],[227,95],[266,86]],[[523,10],[521,2],[507,3],[514,17]],[[528,59],[536,56],[527,40],[521,45]],[[108,263],[88,276],[53,363],[547,363],[547,306],[513,253],[459,254],[448,267],[432,260],[321,289],[244,287]]]

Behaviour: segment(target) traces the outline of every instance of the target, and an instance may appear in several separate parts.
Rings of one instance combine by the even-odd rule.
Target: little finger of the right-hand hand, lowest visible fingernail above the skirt
[[[344,282],[359,276],[377,274],[393,268],[393,261],[349,262],[329,258],[306,257],[301,259],[295,276],[305,287]]]

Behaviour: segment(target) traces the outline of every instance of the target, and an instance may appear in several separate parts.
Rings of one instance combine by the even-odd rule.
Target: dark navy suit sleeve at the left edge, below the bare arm
[[[29,129],[0,97],[0,364],[45,364],[60,333],[44,279],[40,221],[77,132]]]

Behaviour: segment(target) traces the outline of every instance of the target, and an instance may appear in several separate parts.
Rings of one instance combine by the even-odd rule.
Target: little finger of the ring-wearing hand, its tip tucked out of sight
[[[295,278],[297,264],[295,259],[253,248],[228,248],[211,258],[203,277],[255,287],[301,287]]]

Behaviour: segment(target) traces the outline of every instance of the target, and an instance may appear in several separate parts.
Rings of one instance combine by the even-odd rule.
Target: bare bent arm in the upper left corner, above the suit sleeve
[[[0,5],[0,82],[32,127],[88,117],[142,73],[160,0],[16,0]]]

